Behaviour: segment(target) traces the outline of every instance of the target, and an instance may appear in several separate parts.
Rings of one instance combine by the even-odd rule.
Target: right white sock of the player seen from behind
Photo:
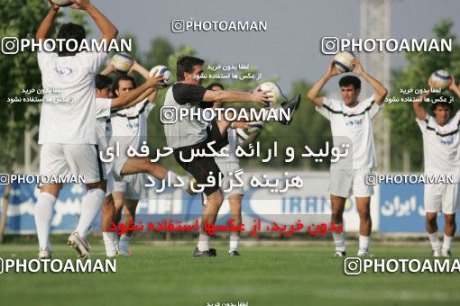
[[[80,219],[78,220],[77,229],[75,229],[81,238],[87,238],[87,232],[93,225],[94,220],[96,220],[105,197],[106,193],[102,189],[94,188],[87,191],[81,202]]]

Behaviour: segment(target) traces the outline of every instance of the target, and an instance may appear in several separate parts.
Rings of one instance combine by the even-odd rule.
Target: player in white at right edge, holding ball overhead
[[[455,78],[448,89],[460,97],[460,88],[455,85]],[[416,115],[416,121],[423,137],[423,159],[425,174],[427,175],[452,175],[454,184],[425,184],[424,200],[427,216],[426,226],[429,242],[433,249],[433,257],[451,257],[451,245],[455,235],[455,212],[458,210],[458,181],[460,174],[460,111],[451,118],[453,105],[450,97],[438,95],[431,104],[434,114],[430,116],[422,103],[431,94],[434,86],[431,79],[428,80],[429,90],[420,94],[418,101],[412,106]],[[446,225],[444,227],[444,241],[439,241],[437,236],[437,213],[444,213]]]

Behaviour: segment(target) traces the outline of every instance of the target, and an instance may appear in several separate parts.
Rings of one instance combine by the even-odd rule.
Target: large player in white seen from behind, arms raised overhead
[[[88,0],[73,0],[73,8],[86,11],[102,32],[102,39],[109,45],[117,30],[104,14]],[[50,12],[41,22],[36,40],[45,40],[51,29],[59,6],[51,4]],[[81,43],[86,33],[82,26],[65,23],[58,31],[58,39],[74,39]],[[68,41],[69,42],[69,41]],[[63,43],[67,46],[67,43]],[[74,44],[69,43],[69,49]],[[65,48],[65,47],[64,47]],[[103,167],[97,148],[95,76],[107,58],[105,51],[71,52],[68,49],[58,53],[39,51],[38,64],[41,70],[44,94],[41,105],[39,144],[41,175],[84,175],[87,194],[81,202],[81,213],[77,229],[69,236],[68,243],[78,251],[78,257],[89,257],[87,232],[101,209],[106,195]],[[52,88],[60,88],[54,94]],[[70,102],[59,102],[59,98]],[[51,257],[50,230],[53,207],[62,184],[41,184],[41,193],[35,205],[34,218],[37,227],[40,252],[39,258]]]

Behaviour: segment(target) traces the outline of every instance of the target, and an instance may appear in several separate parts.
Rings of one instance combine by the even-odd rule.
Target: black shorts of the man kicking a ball
[[[207,143],[213,140],[216,141],[216,143],[212,146],[216,152],[228,144],[227,133],[226,131],[225,135],[220,133],[216,120],[212,121],[211,128],[207,129],[207,139],[192,146],[174,149],[174,157],[176,158],[179,165],[187,172],[189,172],[190,175],[193,175],[198,184],[207,184],[207,176],[209,176],[209,173],[212,172],[211,175],[216,178],[216,185],[205,187],[204,193],[206,195],[210,195],[219,189],[217,182],[221,171],[216,164],[216,160],[214,157],[194,157],[191,161],[184,162],[180,160],[179,154],[181,153],[182,157],[185,159],[189,159],[192,149],[205,149],[206,153],[210,154],[212,151],[207,148]]]

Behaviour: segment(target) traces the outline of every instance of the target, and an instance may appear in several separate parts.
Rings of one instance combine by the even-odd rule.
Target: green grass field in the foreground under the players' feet
[[[460,275],[372,274],[347,276],[333,247],[240,247],[242,257],[229,258],[227,245],[214,244],[215,258],[192,258],[195,246],[133,244],[133,257],[118,258],[115,274],[0,275],[2,305],[453,305],[460,301]],[[349,253],[356,245],[350,243]],[[93,258],[105,258],[102,245]],[[454,249],[455,251],[455,249]],[[373,246],[378,258],[426,258],[425,246]],[[6,244],[2,258],[35,258],[33,244]],[[351,255],[353,256],[353,255]],[[75,257],[66,246],[54,257]]]

